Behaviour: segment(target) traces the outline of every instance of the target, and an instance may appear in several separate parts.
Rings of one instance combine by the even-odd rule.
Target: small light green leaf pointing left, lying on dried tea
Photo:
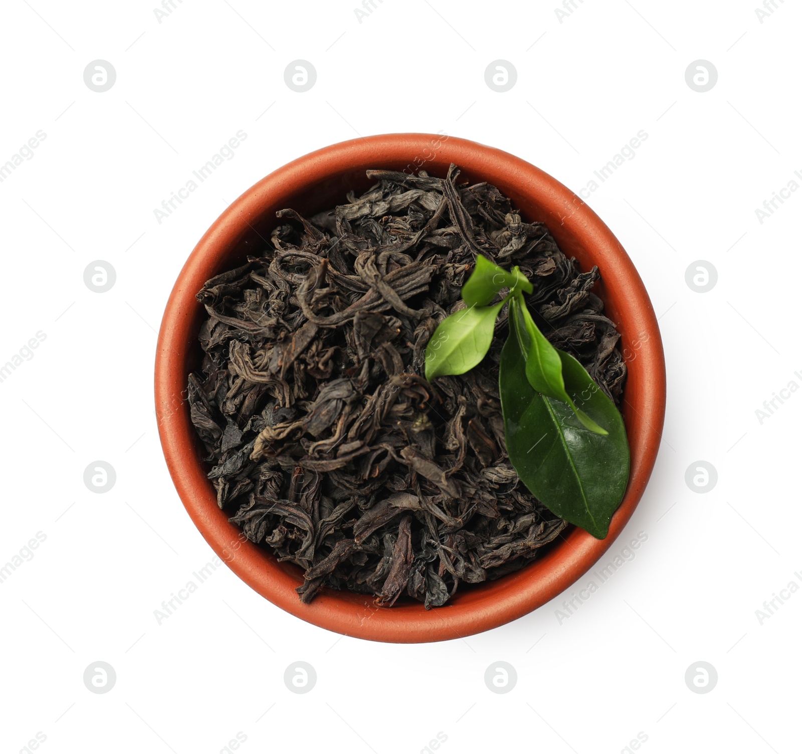
[[[440,322],[426,346],[426,379],[464,375],[476,367],[490,348],[496,317],[506,302],[469,306]]]

